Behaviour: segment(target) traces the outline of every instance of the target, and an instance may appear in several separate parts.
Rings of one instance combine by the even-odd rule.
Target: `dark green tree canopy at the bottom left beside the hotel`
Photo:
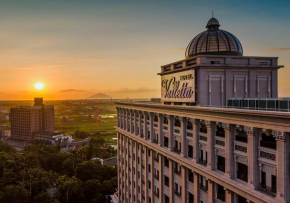
[[[117,169],[91,161],[116,153],[100,148],[104,142],[92,138],[90,145],[66,153],[42,143],[17,152],[0,141],[0,202],[105,202],[117,188]]]

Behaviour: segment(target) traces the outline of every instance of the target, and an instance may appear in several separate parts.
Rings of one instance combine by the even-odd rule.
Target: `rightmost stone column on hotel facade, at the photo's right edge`
[[[280,201],[289,202],[289,134],[273,131],[277,140],[277,196]]]

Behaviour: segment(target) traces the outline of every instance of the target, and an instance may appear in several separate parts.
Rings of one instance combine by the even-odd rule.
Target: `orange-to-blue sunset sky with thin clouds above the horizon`
[[[0,99],[158,97],[160,66],[184,59],[212,10],[245,56],[279,57],[290,97],[289,0],[1,0]]]

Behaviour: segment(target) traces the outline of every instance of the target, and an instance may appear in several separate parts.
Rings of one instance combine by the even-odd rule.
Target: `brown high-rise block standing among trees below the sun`
[[[54,132],[54,106],[44,105],[43,98],[35,98],[34,106],[10,109],[11,138],[30,140],[33,133]]]

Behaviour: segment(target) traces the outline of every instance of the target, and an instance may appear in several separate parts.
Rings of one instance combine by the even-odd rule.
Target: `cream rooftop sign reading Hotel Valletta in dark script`
[[[187,70],[161,76],[163,102],[195,102],[195,71]]]

